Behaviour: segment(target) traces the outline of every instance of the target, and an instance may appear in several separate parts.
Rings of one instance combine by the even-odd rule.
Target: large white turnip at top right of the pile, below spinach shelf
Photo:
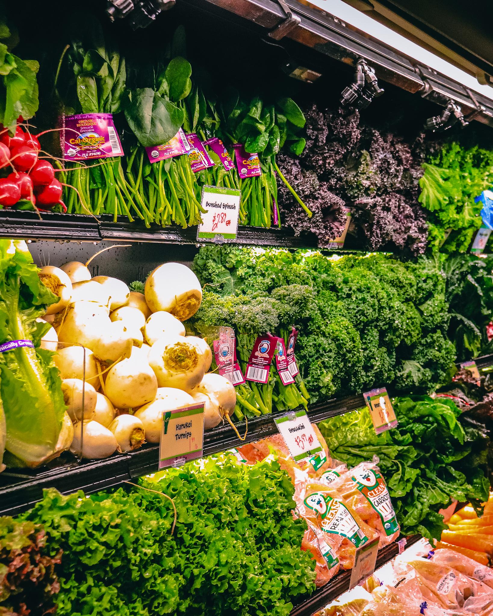
[[[181,263],[165,263],[153,270],[145,281],[144,294],[152,312],[165,310],[181,321],[192,317],[202,302],[197,276]]]

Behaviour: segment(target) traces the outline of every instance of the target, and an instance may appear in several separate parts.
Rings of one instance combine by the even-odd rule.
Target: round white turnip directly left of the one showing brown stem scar
[[[157,391],[158,382],[148,363],[124,359],[108,370],[105,394],[116,408],[141,407]]]

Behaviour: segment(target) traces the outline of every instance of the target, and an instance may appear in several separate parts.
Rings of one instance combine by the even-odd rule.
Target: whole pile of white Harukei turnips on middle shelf
[[[71,452],[97,459],[158,443],[163,411],[197,402],[205,429],[230,421],[234,387],[207,373],[208,341],[185,335],[182,322],[202,302],[192,270],[160,265],[137,293],[117,278],[91,278],[87,266],[71,261],[38,272],[59,298],[43,317],[52,323],[44,344],[64,343],[54,362],[73,423]]]

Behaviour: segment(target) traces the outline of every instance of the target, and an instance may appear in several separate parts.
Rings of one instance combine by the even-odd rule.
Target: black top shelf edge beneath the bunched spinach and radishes
[[[145,241],[197,245],[197,227],[160,227],[149,229],[142,222],[130,222],[110,215],[52,214],[17,210],[0,211],[0,237],[23,240],[57,241]],[[316,248],[317,239],[311,233],[299,237],[290,229],[239,227],[238,244],[280,246],[283,248]]]

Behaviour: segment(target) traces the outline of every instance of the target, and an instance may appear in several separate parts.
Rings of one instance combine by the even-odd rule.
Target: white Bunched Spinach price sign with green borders
[[[204,186],[202,188],[202,224],[197,240],[234,241],[238,231],[241,191],[234,188]]]

